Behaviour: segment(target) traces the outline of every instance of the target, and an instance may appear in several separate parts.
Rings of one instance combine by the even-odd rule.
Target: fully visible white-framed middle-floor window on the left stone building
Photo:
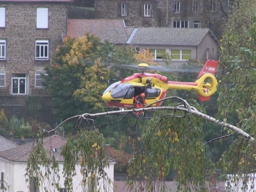
[[[36,40],[36,60],[48,60],[48,40]]]

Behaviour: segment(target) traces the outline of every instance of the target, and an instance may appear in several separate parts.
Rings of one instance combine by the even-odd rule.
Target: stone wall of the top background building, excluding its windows
[[[179,0],[182,8],[180,13],[174,12],[176,0],[95,0],[95,18],[124,19],[127,26],[168,26],[173,27],[174,20],[188,20],[189,27],[194,28],[200,22],[202,28],[211,28],[217,37],[221,36],[222,24],[229,12],[228,0],[216,0],[216,10],[210,11],[210,0],[197,0],[198,12],[193,11],[194,0]],[[128,4],[128,15],[118,16],[118,4]],[[140,6],[144,3],[153,4],[154,18],[143,18]]]

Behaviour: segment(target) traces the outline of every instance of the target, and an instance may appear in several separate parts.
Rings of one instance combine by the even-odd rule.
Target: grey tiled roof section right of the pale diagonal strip
[[[197,46],[208,32],[208,28],[138,27],[130,43]]]

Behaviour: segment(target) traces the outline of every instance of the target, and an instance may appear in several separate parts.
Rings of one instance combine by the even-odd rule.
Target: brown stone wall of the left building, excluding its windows
[[[0,28],[0,38],[6,39],[6,60],[0,61],[0,70],[6,71],[6,86],[0,95],[10,95],[12,73],[28,74],[28,94],[46,94],[35,88],[35,70],[50,64],[56,47],[66,34],[67,5],[63,3],[2,3],[6,8],[6,27]],[[48,8],[48,29],[36,28],[36,8]],[[35,40],[49,40],[49,60],[35,60]]]

